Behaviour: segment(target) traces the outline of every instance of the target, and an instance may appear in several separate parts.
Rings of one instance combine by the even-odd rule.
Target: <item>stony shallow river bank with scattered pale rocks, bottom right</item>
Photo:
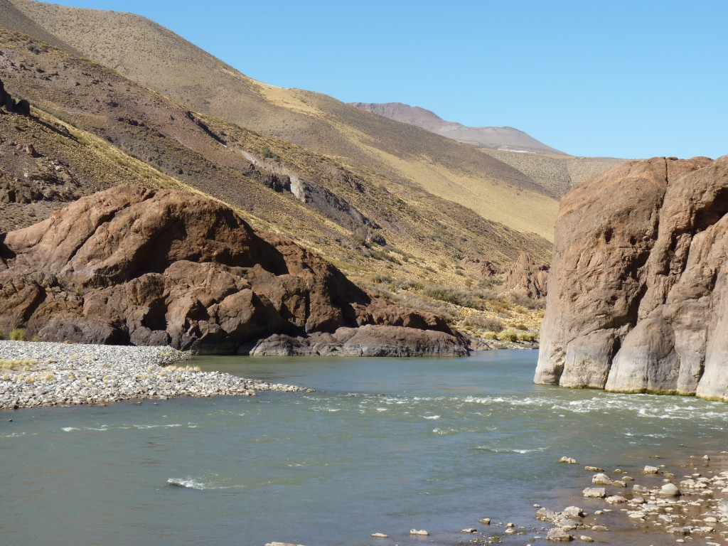
[[[682,460],[674,454],[651,456],[644,466],[614,469],[565,459],[578,469],[581,498],[560,499],[570,502],[568,507],[534,505],[537,520],[550,525],[534,539],[728,544],[728,451]]]

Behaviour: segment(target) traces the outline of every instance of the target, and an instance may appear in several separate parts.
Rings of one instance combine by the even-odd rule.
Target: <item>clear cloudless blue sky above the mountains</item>
[[[144,15],[261,82],[569,154],[728,154],[727,0],[52,1]]]

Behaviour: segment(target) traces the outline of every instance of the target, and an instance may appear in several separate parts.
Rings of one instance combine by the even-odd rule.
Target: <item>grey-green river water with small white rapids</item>
[[[198,357],[317,392],[1,412],[0,542],[451,545],[578,497],[563,455],[630,468],[725,449],[728,404],[534,385],[536,357]]]

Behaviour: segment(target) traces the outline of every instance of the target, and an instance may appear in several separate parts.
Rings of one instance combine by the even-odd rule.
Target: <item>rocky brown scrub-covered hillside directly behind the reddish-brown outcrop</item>
[[[31,43],[37,52],[28,50]],[[540,262],[550,256],[540,237],[416,186],[196,114],[31,37],[0,29],[0,52],[7,90],[33,105],[33,117],[0,114],[3,231],[132,182],[220,199],[359,279],[392,274],[464,286],[472,279],[461,262],[490,261],[505,271],[521,252]]]

